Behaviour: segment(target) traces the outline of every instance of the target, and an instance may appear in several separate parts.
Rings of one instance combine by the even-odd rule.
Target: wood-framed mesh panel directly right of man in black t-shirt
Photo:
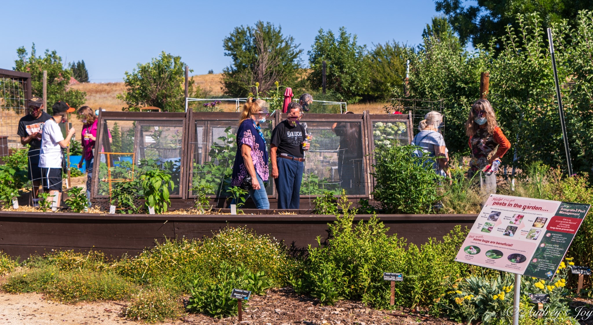
[[[362,114],[305,114],[301,123],[313,136],[305,152],[301,196],[321,195],[329,190],[339,195],[364,196],[364,132]]]

